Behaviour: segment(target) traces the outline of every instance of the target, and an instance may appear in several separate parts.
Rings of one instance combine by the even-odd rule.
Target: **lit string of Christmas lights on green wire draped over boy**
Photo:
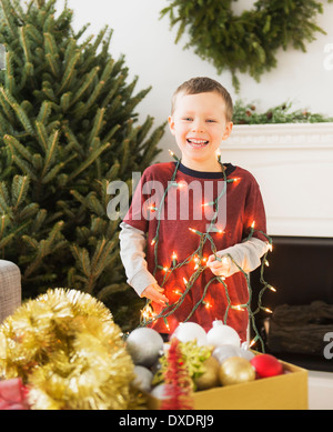
[[[253,221],[252,224],[251,224],[251,228],[250,228],[250,233],[249,233],[248,238],[244,240],[244,241],[250,240],[253,237],[254,232],[259,232],[259,233],[263,234],[268,239],[268,242],[269,242],[269,250],[264,253],[264,255],[262,258],[261,270],[260,270],[260,282],[262,283],[263,288],[261,289],[261,291],[259,293],[258,307],[256,307],[256,309],[254,311],[252,311],[252,309],[251,309],[252,288],[251,288],[251,283],[250,283],[250,274],[244,272],[244,270],[235,262],[235,260],[233,259],[233,257],[230,253],[226,253],[226,254],[224,254],[222,257],[218,255],[216,245],[215,245],[212,237],[210,235],[211,232],[221,232],[221,233],[223,232],[222,230],[219,230],[219,229],[215,228],[215,222],[216,222],[218,213],[219,213],[219,201],[226,193],[226,188],[228,188],[229,183],[233,183],[233,182],[240,181],[240,179],[238,179],[238,178],[233,178],[233,179],[228,179],[226,178],[225,169],[224,169],[223,163],[221,162],[221,155],[220,154],[218,154],[218,161],[221,164],[222,173],[223,173],[223,180],[224,180],[222,191],[216,197],[216,199],[214,201],[211,201],[211,202],[202,204],[202,205],[212,205],[213,207],[214,213],[213,213],[213,218],[211,219],[211,223],[210,223],[206,232],[200,232],[200,231],[198,231],[198,230],[195,230],[193,228],[189,228],[190,232],[192,232],[194,235],[199,237],[199,247],[198,247],[198,249],[194,250],[193,253],[191,253],[182,262],[178,262],[176,252],[172,251],[172,254],[171,254],[171,267],[169,267],[169,268],[163,267],[163,265],[161,265],[159,263],[159,260],[158,260],[158,247],[159,247],[159,232],[160,232],[160,221],[161,221],[160,215],[161,215],[161,212],[162,212],[162,208],[163,208],[163,204],[164,204],[164,201],[165,201],[165,198],[167,198],[167,194],[168,194],[169,190],[171,188],[173,188],[173,187],[176,187],[176,188],[183,187],[182,183],[178,183],[175,181],[175,175],[176,175],[176,172],[178,172],[179,164],[180,164],[181,160],[171,151],[170,151],[170,154],[176,161],[175,169],[174,169],[174,172],[172,174],[171,181],[168,183],[168,188],[165,189],[164,194],[162,195],[160,205],[158,208],[155,205],[151,205],[150,207],[151,211],[157,211],[158,212],[157,231],[155,231],[155,235],[153,237],[153,240],[151,242],[151,245],[154,248],[154,264],[155,265],[154,265],[153,274],[155,274],[155,272],[158,270],[163,270],[164,271],[164,278],[163,278],[162,283],[161,283],[161,287],[163,287],[168,282],[169,277],[171,275],[171,273],[174,270],[176,270],[176,269],[179,269],[179,268],[181,268],[183,265],[188,265],[190,263],[194,263],[194,269],[193,269],[194,271],[191,274],[191,278],[189,280],[183,278],[184,291],[183,292],[181,292],[181,291],[174,292],[174,293],[180,295],[179,299],[174,303],[172,303],[172,304],[168,303],[167,307],[159,314],[155,314],[153,312],[153,309],[151,307],[151,300],[148,300],[145,307],[141,311],[141,320],[140,320],[140,325],[139,326],[145,326],[145,325],[152,323],[155,320],[163,319],[163,321],[165,323],[165,326],[169,329],[168,318],[170,315],[172,315],[175,312],[175,310],[178,308],[180,308],[180,305],[183,303],[186,294],[190,292],[190,290],[194,285],[194,283],[198,280],[198,278],[200,277],[200,274],[204,270],[209,269],[209,267],[206,264],[206,258],[203,257],[203,247],[209,241],[211,243],[212,253],[214,254],[216,260],[223,261],[223,260],[230,258],[230,260],[236,265],[239,271],[244,275],[246,284],[248,284],[248,290],[249,290],[249,300],[244,304],[231,304],[231,300],[230,300],[230,295],[229,295],[229,290],[228,290],[228,284],[225,283],[225,278],[224,277],[219,277],[219,275],[212,275],[211,280],[205,284],[205,287],[203,289],[203,294],[202,294],[200,301],[196,302],[196,304],[194,304],[192,311],[186,317],[184,322],[190,320],[190,318],[193,315],[193,313],[195,312],[195,310],[199,308],[200,304],[203,304],[206,309],[212,307],[211,302],[205,300],[205,297],[206,297],[206,293],[209,291],[210,284],[213,281],[219,281],[223,285],[223,288],[224,288],[225,298],[226,298],[226,301],[228,301],[225,313],[224,313],[224,319],[223,319],[224,324],[226,324],[228,314],[229,314],[229,311],[231,309],[232,310],[238,310],[238,311],[240,311],[240,313],[242,311],[246,310],[248,313],[249,313],[249,320],[251,322],[252,330],[254,331],[254,338],[251,341],[250,346],[253,346],[256,342],[260,342],[261,343],[261,349],[262,349],[262,351],[264,351],[263,340],[260,336],[260,333],[259,333],[259,331],[256,329],[256,325],[255,325],[255,314],[258,314],[261,310],[265,311],[266,313],[272,313],[272,311],[269,308],[265,308],[262,304],[262,298],[263,298],[263,294],[266,291],[266,289],[270,289],[273,292],[276,291],[275,288],[273,288],[271,284],[269,284],[265,281],[265,279],[264,279],[264,267],[269,265],[269,261],[268,261],[266,257],[268,257],[269,251],[272,251],[272,239],[266,233],[264,233],[263,231],[255,230],[255,221]]]

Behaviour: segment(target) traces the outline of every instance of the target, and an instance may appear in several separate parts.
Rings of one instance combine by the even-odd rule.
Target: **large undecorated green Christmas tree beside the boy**
[[[78,289],[128,330],[142,303],[125,283],[108,184],[131,190],[164,124],[138,124],[133,110],[150,89],[127,83],[124,57],[109,52],[112,31],[82,40],[89,24],[74,31],[73,11],[56,3],[0,0],[0,253],[19,265],[23,298]]]

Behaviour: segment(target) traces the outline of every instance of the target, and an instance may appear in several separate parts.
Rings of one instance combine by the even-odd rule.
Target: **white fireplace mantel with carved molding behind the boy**
[[[221,153],[258,180],[270,235],[333,237],[333,123],[234,125]]]

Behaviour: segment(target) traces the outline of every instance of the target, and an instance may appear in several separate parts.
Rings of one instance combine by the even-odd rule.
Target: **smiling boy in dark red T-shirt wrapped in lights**
[[[165,312],[151,323],[162,334],[188,319],[209,331],[228,311],[226,324],[246,340],[248,312],[231,305],[248,302],[240,268],[259,267],[268,242],[258,232],[266,227],[255,179],[216,157],[232,131],[232,110],[229,92],[212,79],[193,78],[176,89],[169,127],[181,159],[144,171],[121,223],[128,283],[151,300],[154,315]]]

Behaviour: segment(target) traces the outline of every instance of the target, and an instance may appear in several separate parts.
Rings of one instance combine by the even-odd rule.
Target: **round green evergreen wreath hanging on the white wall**
[[[254,8],[235,14],[235,0],[173,0],[161,11],[169,13],[171,28],[179,30],[175,43],[185,30],[189,42],[203,60],[210,60],[220,74],[232,73],[236,91],[236,72],[249,73],[256,81],[265,71],[276,67],[276,52],[290,46],[305,52],[305,41],[315,40],[314,33],[325,31],[315,23],[323,6],[315,0],[258,0]],[[333,0],[329,0],[332,2]]]

